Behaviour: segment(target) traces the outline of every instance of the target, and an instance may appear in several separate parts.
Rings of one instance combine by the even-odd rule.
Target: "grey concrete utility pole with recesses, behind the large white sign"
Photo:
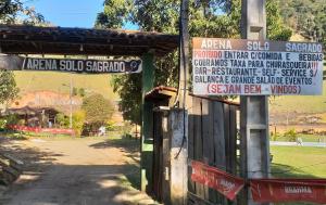
[[[266,0],[242,0],[241,36],[266,39]],[[241,169],[246,179],[268,178],[268,97],[241,97]],[[253,205],[247,189],[241,204]]]

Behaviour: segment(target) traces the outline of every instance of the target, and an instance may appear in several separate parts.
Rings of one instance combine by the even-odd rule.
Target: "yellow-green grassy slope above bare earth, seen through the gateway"
[[[55,72],[14,72],[17,87],[21,94],[33,91],[54,91],[68,93],[67,87],[73,79],[73,87],[84,88],[86,93],[101,93],[106,99],[118,100],[118,95],[113,92],[110,75],[83,75],[65,74]],[[65,86],[67,85],[67,86]]]

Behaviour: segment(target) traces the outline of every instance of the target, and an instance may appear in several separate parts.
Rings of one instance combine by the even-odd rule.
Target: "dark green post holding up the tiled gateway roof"
[[[147,92],[154,87],[154,55],[147,53],[142,56],[142,128],[141,128],[141,156],[140,175],[141,191],[152,191],[152,163],[153,163],[153,104],[145,101]]]

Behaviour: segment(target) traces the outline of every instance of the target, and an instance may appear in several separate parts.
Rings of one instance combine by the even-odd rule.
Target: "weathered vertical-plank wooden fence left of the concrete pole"
[[[230,174],[237,170],[237,111],[235,103],[192,97],[189,102],[188,157]],[[192,182],[188,174],[188,204],[227,204],[216,191]]]

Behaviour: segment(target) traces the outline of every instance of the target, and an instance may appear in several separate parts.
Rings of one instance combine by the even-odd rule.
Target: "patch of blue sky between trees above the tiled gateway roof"
[[[103,10],[104,0],[26,0],[26,5],[35,7],[54,26],[93,26],[97,14]]]

